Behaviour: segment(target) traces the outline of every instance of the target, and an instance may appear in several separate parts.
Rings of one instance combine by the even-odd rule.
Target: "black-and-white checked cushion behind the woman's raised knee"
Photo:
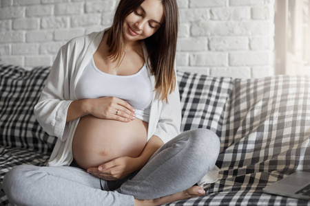
[[[207,128],[219,137],[225,108],[234,87],[232,78],[177,72],[182,108],[181,131]]]

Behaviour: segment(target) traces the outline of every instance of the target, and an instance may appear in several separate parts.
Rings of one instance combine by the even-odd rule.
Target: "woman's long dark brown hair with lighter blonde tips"
[[[110,47],[109,57],[121,63],[125,42],[123,39],[123,22],[145,0],[121,0],[114,15],[112,27],[107,31],[107,45]],[[166,100],[176,87],[174,60],[176,58],[176,40],[178,38],[178,5],[176,0],[158,0],[163,3],[164,21],[161,27],[144,40],[155,76],[155,89],[160,99]]]

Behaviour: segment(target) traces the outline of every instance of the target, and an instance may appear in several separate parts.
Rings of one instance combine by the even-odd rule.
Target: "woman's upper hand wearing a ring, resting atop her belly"
[[[134,107],[120,98],[103,97],[89,100],[88,113],[94,117],[120,122],[130,122],[136,117]]]

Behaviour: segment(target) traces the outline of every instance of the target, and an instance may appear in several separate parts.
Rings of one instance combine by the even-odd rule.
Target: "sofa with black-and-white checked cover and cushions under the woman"
[[[15,165],[45,165],[56,142],[33,107],[50,67],[0,65],[0,181]],[[218,181],[205,196],[168,205],[310,205],[262,188],[310,172],[310,79],[232,79],[177,71],[181,130],[208,128],[220,139]],[[9,205],[0,185],[0,205]]]

